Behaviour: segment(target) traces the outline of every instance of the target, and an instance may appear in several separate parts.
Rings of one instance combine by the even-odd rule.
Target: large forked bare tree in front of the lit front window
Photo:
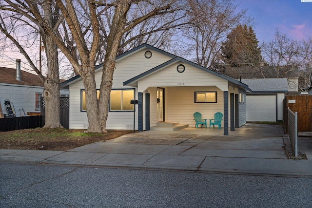
[[[112,0],[112,1],[71,1],[56,0],[60,9],[61,16],[66,22],[66,28],[71,33],[72,45],[69,46],[62,35],[64,31],[56,30],[43,23],[41,16],[37,15],[36,19],[40,27],[46,31],[59,46],[62,53],[72,64],[76,74],[81,76],[86,99],[87,117],[89,127],[86,132],[106,132],[106,120],[108,115],[109,95],[112,88],[112,78],[115,69],[117,52],[120,41],[124,34],[135,28],[140,23],[153,17],[163,17],[181,10],[177,0]],[[74,5],[75,3],[75,5]],[[181,3],[183,3],[181,1]],[[127,19],[128,12],[133,7],[150,8],[135,19]],[[33,11],[35,7],[29,5]],[[108,15],[106,18],[109,24],[103,24],[106,34],[100,33],[100,16],[105,16],[105,11],[111,10],[113,16]],[[143,10],[142,10],[143,11]],[[109,13],[108,13],[109,14]],[[90,20],[80,18],[83,15],[89,16]],[[183,13],[181,14],[184,15]],[[173,20],[179,20],[177,17]],[[83,20],[81,22],[81,20]],[[104,22],[104,21],[103,21]],[[106,27],[106,25],[108,25]],[[105,38],[105,57],[103,62],[103,74],[100,85],[99,99],[96,93],[95,82],[95,63],[100,48],[100,39]],[[77,58],[78,57],[78,58]]]

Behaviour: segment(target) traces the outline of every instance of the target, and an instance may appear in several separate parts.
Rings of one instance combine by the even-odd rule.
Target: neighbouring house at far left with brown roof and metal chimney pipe
[[[40,114],[40,97],[43,83],[39,76],[17,69],[0,67],[0,105],[3,114],[7,114],[4,100],[10,100],[16,116]],[[68,96],[68,90],[61,89],[62,96]]]

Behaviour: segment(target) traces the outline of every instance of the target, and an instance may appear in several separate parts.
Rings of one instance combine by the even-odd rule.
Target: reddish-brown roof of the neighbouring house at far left
[[[18,81],[15,77],[16,69],[0,67],[0,83],[43,87],[38,75],[20,70],[21,81]]]

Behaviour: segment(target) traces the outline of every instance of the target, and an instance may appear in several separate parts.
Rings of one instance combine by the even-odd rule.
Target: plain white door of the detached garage
[[[276,95],[247,95],[247,121],[276,121]]]

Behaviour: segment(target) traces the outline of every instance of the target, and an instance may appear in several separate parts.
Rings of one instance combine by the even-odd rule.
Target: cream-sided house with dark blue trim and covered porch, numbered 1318
[[[102,65],[96,67],[100,87]],[[70,128],[88,128],[84,86],[80,76],[63,82],[70,92]],[[179,122],[195,127],[193,114],[214,118],[223,113],[222,129],[228,135],[246,123],[246,90],[248,86],[191,61],[176,57],[148,44],[128,51],[116,59],[110,95],[107,129],[150,130],[159,122]]]

